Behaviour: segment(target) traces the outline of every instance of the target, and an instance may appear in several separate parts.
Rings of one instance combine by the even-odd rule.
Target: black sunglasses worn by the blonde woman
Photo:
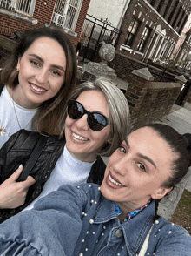
[[[84,114],[88,115],[87,123],[92,131],[101,131],[109,125],[109,119],[99,112],[86,111],[81,103],[74,99],[69,99],[68,115],[69,118],[77,120],[82,118]]]

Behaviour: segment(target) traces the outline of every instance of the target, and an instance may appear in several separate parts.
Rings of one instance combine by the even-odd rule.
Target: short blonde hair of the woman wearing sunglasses
[[[75,91],[71,93],[70,99],[76,99],[83,91],[101,91],[109,108],[109,122],[111,129],[108,140],[111,141],[109,145],[103,145],[100,155],[109,157],[115,149],[122,144],[122,141],[127,138],[129,133],[129,107],[128,100],[116,85],[105,77],[96,78],[95,81],[87,81],[80,84]],[[89,97],[91,97],[89,95]],[[64,123],[67,113],[63,115],[63,133]]]

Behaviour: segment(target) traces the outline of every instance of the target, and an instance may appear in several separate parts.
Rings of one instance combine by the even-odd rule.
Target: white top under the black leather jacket
[[[23,211],[32,209],[37,200],[52,191],[56,191],[61,185],[81,185],[82,183],[86,183],[91,167],[95,161],[93,163],[82,162],[74,158],[69,153],[67,147],[64,146],[63,153],[60,158],[58,158],[55,169],[45,183],[43,191],[30,205],[24,208]]]

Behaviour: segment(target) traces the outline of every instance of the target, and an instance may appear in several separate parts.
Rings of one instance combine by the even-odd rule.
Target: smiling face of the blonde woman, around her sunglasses
[[[83,91],[76,100],[83,105],[87,111],[98,111],[109,118],[108,104],[101,91]],[[92,131],[87,123],[87,114],[82,118],[74,120],[67,116],[65,122],[66,147],[74,158],[83,162],[93,162],[102,145],[109,137],[109,126],[102,131]]]

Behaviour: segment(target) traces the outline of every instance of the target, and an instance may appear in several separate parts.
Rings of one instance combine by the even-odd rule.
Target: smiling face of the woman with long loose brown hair
[[[64,83],[66,57],[54,39],[40,37],[30,45],[17,64],[19,84],[14,100],[25,108],[36,108],[56,96]]]

